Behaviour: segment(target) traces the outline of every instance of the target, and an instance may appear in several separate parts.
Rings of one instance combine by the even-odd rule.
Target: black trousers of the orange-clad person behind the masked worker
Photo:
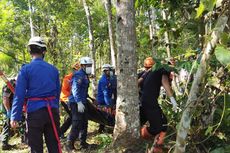
[[[72,114],[71,110],[69,109],[68,105],[66,102],[61,102],[61,105],[64,107],[65,112],[69,115],[68,118],[64,121],[62,126],[60,127],[60,136],[64,135],[65,132],[69,129],[69,127],[72,124]]]

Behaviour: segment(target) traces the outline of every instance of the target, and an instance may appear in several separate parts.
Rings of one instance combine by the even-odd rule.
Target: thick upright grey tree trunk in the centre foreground
[[[134,149],[139,138],[139,105],[134,0],[117,0],[118,99],[113,145]]]

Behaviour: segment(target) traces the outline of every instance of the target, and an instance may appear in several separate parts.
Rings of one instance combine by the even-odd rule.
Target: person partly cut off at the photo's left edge
[[[15,79],[11,79],[10,83],[15,87]],[[10,139],[10,115],[11,115],[11,108],[12,108],[12,102],[13,102],[13,92],[5,85],[2,88],[2,108],[3,112],[5,114],[4,118],[4,124],[2,128],[2,134],[1,134],[1,141],[2,141],[2,150],[11,150],[15,146],[10,145],[9,139]]]

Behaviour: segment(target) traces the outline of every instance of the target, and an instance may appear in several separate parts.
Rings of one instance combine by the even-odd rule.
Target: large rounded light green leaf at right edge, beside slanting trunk
[[[217,46],[215,50],[217,60],[223,65],[230,64],[230,51],[223,46]]]

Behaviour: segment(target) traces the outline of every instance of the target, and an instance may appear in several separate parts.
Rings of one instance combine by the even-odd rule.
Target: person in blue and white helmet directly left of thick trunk
[[[110,64],[104,64],[102,66],[102,76],[98,83],[97,103],[99,109],[105,111],[106,118],[109,119],[108,115],[112,113],[113,101],[112,101],[112,83],[110,79]],[[105,126],[100,124],[98,132],[102,133]]]

